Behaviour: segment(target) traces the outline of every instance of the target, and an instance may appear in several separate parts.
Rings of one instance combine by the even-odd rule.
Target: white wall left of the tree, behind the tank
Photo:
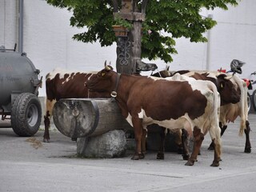
[[[48,5],[43,0],[24,0],[23,51],[45,76],[54,68],[101,70],[105,60],[114,66],[115,46],[101,47],[72,39],[82,29],[70,26],[71,13]],[[0,46],[13,48],[18,43],[18,0],[0,1]],[[46,95],[45,85],[39,95]]]

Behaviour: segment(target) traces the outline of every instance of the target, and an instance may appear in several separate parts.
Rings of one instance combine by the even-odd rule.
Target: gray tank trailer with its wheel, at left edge
[[[0,117],[10,119],[15,134],[29,137],[37,133],[42,107],[38,88],[42,86],[37,70],[26,53],[0,46]]]

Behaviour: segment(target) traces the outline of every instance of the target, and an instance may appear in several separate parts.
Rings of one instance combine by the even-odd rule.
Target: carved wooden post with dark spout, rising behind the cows
[[[114,2],[114,0],[113,0]],[[158,67],[154,63],[142,62],[142,22],[145,20],[147,0],[142,1],[142,10],[138,10],[138,1],[134,0],[131,12],[122,7],[118,13],[123,19],[133,22],[133,28],[127,37],[119,37],[117,42],[116,68],[121,74],[139,74],[145,70],[155,70]],[[122,5],[125,3],[122,1]],[[114,5],[116,12],[116,4]]]

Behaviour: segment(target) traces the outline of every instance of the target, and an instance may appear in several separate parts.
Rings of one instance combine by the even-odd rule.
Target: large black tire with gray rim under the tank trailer
[[[42,108],[39,99],[30,93],[19,94],[11,109],[11,126],[15,134],[30,137],[38,132]]]

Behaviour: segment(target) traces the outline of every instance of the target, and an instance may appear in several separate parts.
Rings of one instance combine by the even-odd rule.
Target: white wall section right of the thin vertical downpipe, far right
[[[211,35],[211,67],[230,65],[233,58],[246,62],[243,67],[243,77],[250,77],[256,70],[256,2],[242,1],[237,7],[230,10],[216,10],[214,18],[218,26],[214,27]]]

